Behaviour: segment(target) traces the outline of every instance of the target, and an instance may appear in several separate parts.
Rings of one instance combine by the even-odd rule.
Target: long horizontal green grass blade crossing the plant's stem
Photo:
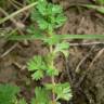
[[[5,37],[6,40],[35,40],[40,39],[47,43],[55,44],[61,40],[67,39],[102,39],[104,40],[104,35],[54,35],[53,37],[46,37],[43,35],[12,35],[10,37]],[[52,41],[53,39],[53,41]]]

